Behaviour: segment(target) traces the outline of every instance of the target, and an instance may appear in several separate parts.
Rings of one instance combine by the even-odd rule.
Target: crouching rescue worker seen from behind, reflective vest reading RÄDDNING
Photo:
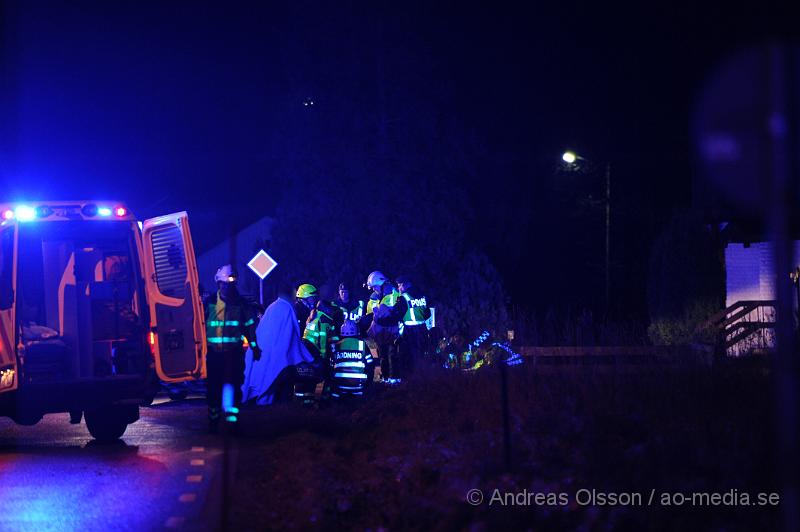
[[[355,321],[345,321],[340,336],[331,346],[331,395],[335,399],[363,397],[375,369],[372,353]]]

